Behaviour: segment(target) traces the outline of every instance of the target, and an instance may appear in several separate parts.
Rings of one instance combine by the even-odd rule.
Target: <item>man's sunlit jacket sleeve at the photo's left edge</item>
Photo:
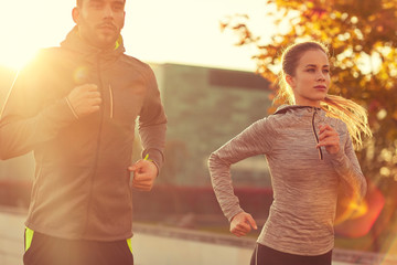
[[[49,102],[41,70],[35,61],[18,75],[9,92],[0,116],[0,159],[33,150],[75,120],[65,98]]]

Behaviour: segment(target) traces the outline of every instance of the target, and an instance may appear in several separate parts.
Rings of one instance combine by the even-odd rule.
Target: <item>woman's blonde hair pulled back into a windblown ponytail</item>
[[[292,88],[286,82],[286,75],[294,76],[299,60],[307,51],[320,50],[329,55],[328,47],[315,41],[296,43],[288,46],[281,56],[282,70],[279,75],[279,89],[275,102],[293,105],[296,104]],[[326,95],[321,102],[321,108],[329,117],[343,120],[352,136],[356,149],[363,146],[364,136],[372,136],[368,125],[367,112],[358,104],[342,96]]]

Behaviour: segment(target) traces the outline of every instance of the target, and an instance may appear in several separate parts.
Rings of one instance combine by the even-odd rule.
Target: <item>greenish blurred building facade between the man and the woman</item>
[[[153,70],[169,118],[167,161],[159,181],[207,186],[211,152],[268,115],[269,83],[242,71],[178,64],[153,65]],[[232,169],[237,186],[270,184],[264,157]]]

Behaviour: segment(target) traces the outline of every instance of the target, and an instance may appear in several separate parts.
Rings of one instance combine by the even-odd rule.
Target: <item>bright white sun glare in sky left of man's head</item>
[[[23,67],[35,53],[57,45],[72,29],[74,1],[20,0],[0,4],[0,65]]]

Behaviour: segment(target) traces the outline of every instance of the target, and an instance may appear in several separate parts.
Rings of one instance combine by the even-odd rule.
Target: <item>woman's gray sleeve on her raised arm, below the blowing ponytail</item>
[[[340,176],[341,186],[345,190],[345,195],[352,197],[351,199],[355,202],[360,202],[366,194],[367,182],[354,152],[352,138],[347,132],[347,127],[345,124],[343,124],[343,126],[344,131],[346,131],[346,139],[344,145],[340,148],[340,151],[335,155],[331,155],[331,162],[336,173]]]

